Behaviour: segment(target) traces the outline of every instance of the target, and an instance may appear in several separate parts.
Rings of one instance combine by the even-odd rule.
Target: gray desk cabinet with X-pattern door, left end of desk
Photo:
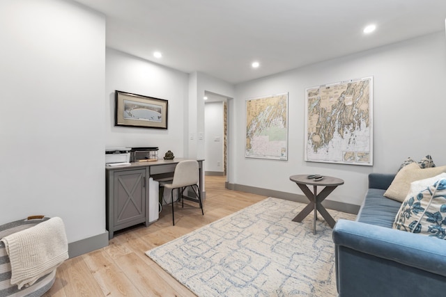
[[[107,172],[107,230],[146,223],[146,169]]]

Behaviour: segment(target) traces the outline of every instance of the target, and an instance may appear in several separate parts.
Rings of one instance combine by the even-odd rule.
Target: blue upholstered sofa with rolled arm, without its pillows
[[[446,240],[392,229],[401,202],[383,194],[394,176],[371,173],[356,220],[334,225],[339,297],[446,292]]]

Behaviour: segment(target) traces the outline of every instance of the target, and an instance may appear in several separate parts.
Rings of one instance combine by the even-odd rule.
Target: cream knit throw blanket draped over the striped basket
[[[68,259],[68,241],[61,218],[54,217],[1,239],[11,264],[11,284],[31,286]]]

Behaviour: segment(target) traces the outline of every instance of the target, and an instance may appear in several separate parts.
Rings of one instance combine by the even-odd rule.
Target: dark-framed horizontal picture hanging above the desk
[[[115,126],[167,129],[167,100],[115,91]]]

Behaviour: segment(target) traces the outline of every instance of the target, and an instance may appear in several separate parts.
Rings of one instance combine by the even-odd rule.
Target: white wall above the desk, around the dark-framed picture
[[[159,147],[160,159],[167,150],[186,156],[187,74],[107,48],[105,79],[107,147]],[[114,126],[115,90],[168,100],[167,129]]]

